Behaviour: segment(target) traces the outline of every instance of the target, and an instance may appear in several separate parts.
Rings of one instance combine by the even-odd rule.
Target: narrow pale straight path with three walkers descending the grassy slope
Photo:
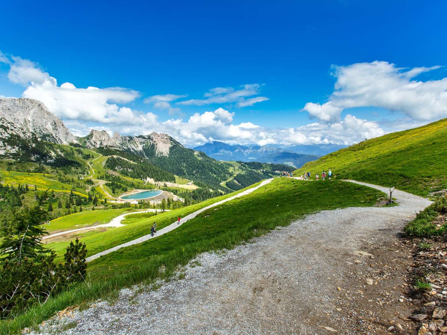
[[[95,255],[91,255],[91,256],[87,257],[85,260],[87,262],[91,262],[92,260],[96,260],[97,258],[99,258],[99,257],[101,257],[103,255],[110,254],[110,252],[117,251],[118,249],[121,249],[121,248],[124,248],[124,247],[129,247],[129,246],[134,245],[134,244],[142,243],[142,242],[148,241],[149,239],[152,239],[152,238],[158,237],[160,235],[169,233],[169,231],[174,230],[177,227],[181,226],[183,223],[187,222],[188,220],[190,220],[192,218],[195,218],[198,214],[202,213],[203,211],[205,211],[207,209],[210,209],[212,207],[221,205],[221,204],[223,204],[223,203],[225,203],[227,201],[231,201],[233,199],[236,199],[236,198],[239,198],[239,197],[243,197],[243,196],[245,196],[247,194],[250,194],[253,191],[256,191],[258,188],[260,188],[260,187],[262,187],[262,186],[264,186],[266,184],[269,184],[272,180],[273,180],[273,178],[263,180],[261,182],[261,184],[255,186],[255,187],[249,188],[249,189],[247,189],[247,190],[245,190],[245,191],[243,191],[241,193],[238,193],[238,194],[236,194],[236,195],[234,195],[232,197],[229,197],[227,199],[223,199],[221,201],[217,201],[214,204],[211,204],[211,205],[203,207],[203,208],[201,208],[199,210],[196,210],[195,212],[186,215],[184,218],[181,218],[180,224],[178,224],[177,221],[176,221],[176,222],[171,223],[169,226],[166,226],[166,227],[164,227],[164,228],[162,228],[160,230],[157,230],[157,232],[156,232],[156,234],[154,234],[154,236],[151,236],[151,234],[147,234],[147,235],[141,236],[138,239],[134,239],[132,241],[129,241],[129,242],[117,245],[116,247],[113,247],[113,248],[110,248],[110,249],[98,252]]]

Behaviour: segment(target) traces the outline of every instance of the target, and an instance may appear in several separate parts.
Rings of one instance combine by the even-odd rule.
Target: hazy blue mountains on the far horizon
[[[306,146],[314,147],[317,151],[318,145]],[[311,151],[310,148],[305,148]],[[304,163],[315,160],[320,155],[297,153],[293,150],[287,150],[271,146],[258,145],[230,145],[223,142],[214,141],[205,143],[202,146],[195,147],[194,150],[202,151],[208,156],[223,161],[239,160],[243,162],[261,162],[261,163],[280,163],[294,167],[301,167]],[[337,150],[337,149],[335,149]]]

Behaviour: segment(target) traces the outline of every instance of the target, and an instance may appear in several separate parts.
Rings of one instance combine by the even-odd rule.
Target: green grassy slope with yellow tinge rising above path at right
[[[332,169],[354,179],[428,196],[447,188],[447,119],[354,144],[295,170],[299,176]]]

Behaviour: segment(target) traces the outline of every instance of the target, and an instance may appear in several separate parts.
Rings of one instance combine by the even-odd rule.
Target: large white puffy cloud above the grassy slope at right
[[[447,78],[416,80],[424,72],[440,66],[396,67],[375,61],[333,66],[337,78],[329,102],[308,103],[304,110],[322,121],[336,120],[343,109],[375,106],[401,112],[414,120],[433,121],[447,117]]]

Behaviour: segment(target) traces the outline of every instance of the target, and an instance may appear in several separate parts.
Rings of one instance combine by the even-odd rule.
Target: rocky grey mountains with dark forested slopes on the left
[[[63,145],[70,145],[71,149]],[[132,176],[143,180],[149,177],[175,181],[174,175],[194,180],[201,187],[200,191],[194,191],[196,193],[229,192],[230,188],[223,182],[234,176],[231,164],[186,148],[168,134],[152,132],[148,135],[123,136],[115,133],[110,136],[103,130],[91,130],[85,137],[76,137],[41,101],[0,98],[0,158],[57,167],[82,165],[80,161],[73,161],[73,147],[93,149],[109,156],[105,161],[109,169],[125,175],[132,172]],[[262,150],[277,151],[272,148]],[[259,167],[259,172],[244,167],[243,172],[249,175],[241,174],[239,182],[236,180],[232,183],[232,189],[241,188],[244,182],[254,183],[269,178],[274,173],[273,168],[283,170],[287,167],[263,165]],[[204,194],[202,200],[207,197],[209,194]]]

